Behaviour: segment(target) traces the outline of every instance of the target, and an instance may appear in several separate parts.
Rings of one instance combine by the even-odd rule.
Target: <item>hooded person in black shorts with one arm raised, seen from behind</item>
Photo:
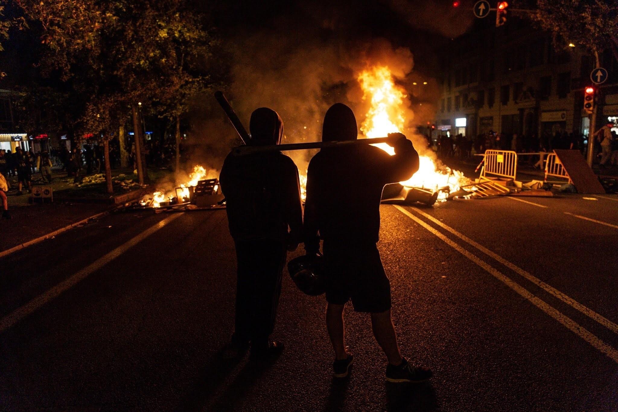
[[[431,377],[426,368],[413,368],[402,358],[391,321],[391,284],[376,243],[380,200],[387,183],[409,179],[418,170],[418,154],[404,135],[395,155],[370,145],[321,149],[307,172],[304,240],[307,254],[324,240],[326,326],[335,351],[336,377],[347,376],[353,356],[344,342],[343,311],[371,313],[373,334],[386,354],[386,379],[420,382]],[[324,116],[322,141],[356,140],[357,123],[345,104],[334,104]]]

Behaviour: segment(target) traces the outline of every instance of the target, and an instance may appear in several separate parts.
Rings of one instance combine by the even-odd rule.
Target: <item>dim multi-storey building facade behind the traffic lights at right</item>
[[[598,88],[598,124],[612,117],[618,124],[618,65],[611,53],[599,57],[609,75]],[[523,20],[476,28],[444,56],[437,134],[517,133],[526,142],[556,132],[587,136],[583,89],[593,85],[593,62],[578,48],[556,51],[551,35]]]

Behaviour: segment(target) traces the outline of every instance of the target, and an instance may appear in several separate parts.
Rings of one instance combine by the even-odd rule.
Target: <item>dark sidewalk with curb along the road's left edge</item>
[[[17,178],[9,178],[11,191],[7,193],[7,198],[12,219],[0,220],[0,251],[111,209],[114,200],[128,201],[141,191],[148,190],[135,183],[137,176],[132,174],[132,170],[114,169],[114,197],[111,198],[106,193],[104,176],[91,174],[85,177],[82,185],[76,185],[66,172],[57,169],[54,167],[52,174],[53,203],[30,203],[27,188],[23,188],[23,194],[18,195]],[[33,174],[32,179],[33,187],[43,184],[40,173]]]

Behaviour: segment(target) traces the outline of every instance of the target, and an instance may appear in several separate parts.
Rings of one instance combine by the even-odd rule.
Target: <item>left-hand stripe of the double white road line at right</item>
[[[548,303],[546,303],[545,301],[541,300],[540,298],[536,297],[532,293],[528,292],[527,289],[515,283],[513,280],[509,279],[509,277],[502,274],[502,272],[499,272],[496,269],[494,269],[494,267],[489,266],[489,264],[485,263],[483,260],[478,258],[475,254],[470,253],[469,251],[462,248],[462,246],[458,245],[457,243],[453,242],[451,239],[442,235],[442,233],[438,232],[438,230],[434,229],[430,225],[421,221],[421,219],[414,216],[412,213],[408,212],[407,210],[405,210],[404,208],[402,208],[401,206],[397,204],[393,206],[399,209],[399,211],[405,214],[405,216],[410,217],[410,219],[420,224],[422,227],[427,229],[429,232],[433,233],[433,235],[435,235],[440,240],[442,240],[442,242],[451,246],[452,248],[457,250],[459,253],[463,254],[466,258],[470,259],[470,261],[472,261],[473,263],[485,269],[485,271],[493,275],[496,279],[500,280],[502,283],[510,287],[512,290],[519,293],[519,295],[521,295],[523,298],[530,301],[530,303],[535,305],[537,308],[541,309],[544,313],[556,319],[556,321],[560,322],[562,326],[566,327],[571,332],[578,335],[580,338],[582,338],[586,342],[590,343],[590,345],[595,347],[601,353],[604,353],[605,355],[609,356],[609,358],[611,358],[614,362],[618,363],[618,350],[607,345],[607,343],[603,342],[603,340],[591,334],[591,332],[589,332],[588,330],[586,330],[585,328],[577,324],[577,322],[575,322],[573,319],[570,319],[570,317],[565,316],[563,313],[561,313],[557,309],[548,305]]]

